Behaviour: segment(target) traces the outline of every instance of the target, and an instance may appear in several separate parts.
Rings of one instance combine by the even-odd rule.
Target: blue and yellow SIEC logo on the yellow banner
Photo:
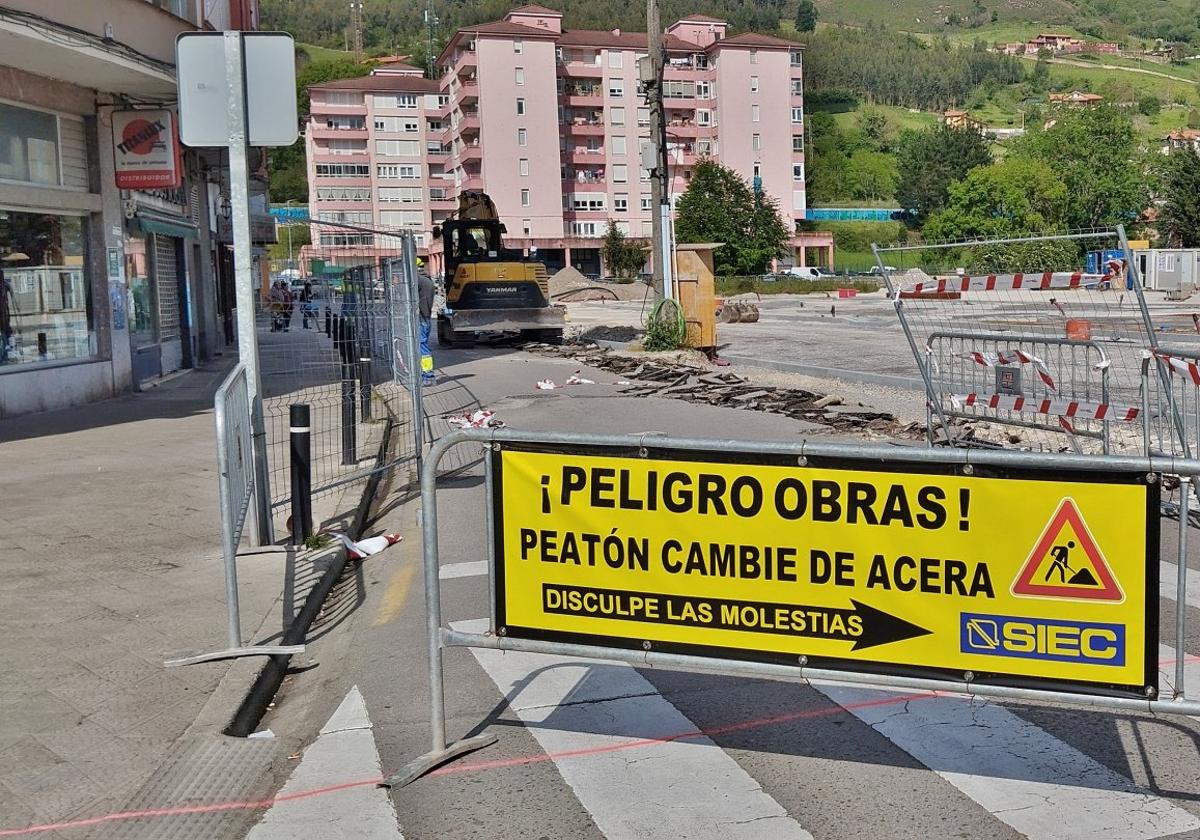
[[[970,612],[962,613],[960,620],[962,653],[1114,667],[1124,665],[1123,624]]]

